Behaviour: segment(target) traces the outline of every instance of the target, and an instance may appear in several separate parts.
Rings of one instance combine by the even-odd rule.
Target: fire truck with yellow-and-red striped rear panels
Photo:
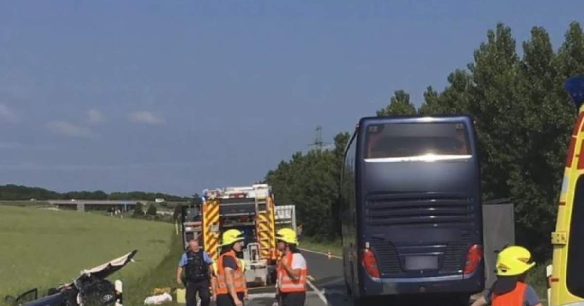
[[[237,228],[244,232],[245,276],[251,284],[274,282],[277,259],[276,206],[269,185],[203,190],[203,204],[182,207],[183,247],[190,239],[217,260],[221,233]]]

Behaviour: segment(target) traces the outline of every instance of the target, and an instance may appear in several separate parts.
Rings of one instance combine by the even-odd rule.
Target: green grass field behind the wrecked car
[[[139,302],[130,305],[140,305],[151,284],[172,279],[174,271],[152,272],[167,256],[177,251],[180,255],[174,234],[174,226],[164,222],[0,206],[0,298],[35,287],[44,295],[47,288],[71,281],[84,268],[138,249],[135,262],[110,279],[123,280],[124,297],[129,300],[135,293],[133,299]],[[176,269],[178,258],[171,261]],[[147,276],[150,282],[144,279]]]

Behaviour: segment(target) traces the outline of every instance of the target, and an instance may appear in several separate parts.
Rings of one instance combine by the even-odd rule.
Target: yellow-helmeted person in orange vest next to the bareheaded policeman
[[[236,252],[244,247],[243,233],[238,229],[228,229],[223,233],[221,256],[217,260],[215,286],[217,306],[243,306],[246,284],[245,275]]]

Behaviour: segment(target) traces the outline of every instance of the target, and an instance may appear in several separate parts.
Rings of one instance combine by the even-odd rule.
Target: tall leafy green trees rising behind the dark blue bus
[[[395,91],[377,116],[469,114],[478,136],[482,200],[512,199],[517,243],[537,259],[547,259],[576,117],[562,84],[584,73],[584,35],[573,22],[554,49],[548,32],[533,27],[521,48],[518,53],[510,27],[499,23],[474,50],[474,61],[447,76],[441,92],[428,86],[416,108],[408,93]],[[296,204],[307,235],[339,235],[333,216],[348,139],[349,134],[339,133],[334,149],[296,152],[266,175],[277,203]]]

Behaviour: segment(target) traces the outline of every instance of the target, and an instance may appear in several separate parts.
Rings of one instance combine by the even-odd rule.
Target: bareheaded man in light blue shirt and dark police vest
[[[176,283],[186,287],[187,306],[197,306],[196,295],[199,292],[201,306],[208,306],[210,301],[209,280],[213,259],[199,247],[196,239],[189,241],[189,249],[182,255],[176,269]],[[182,273],[185,271],[185,277]]]

